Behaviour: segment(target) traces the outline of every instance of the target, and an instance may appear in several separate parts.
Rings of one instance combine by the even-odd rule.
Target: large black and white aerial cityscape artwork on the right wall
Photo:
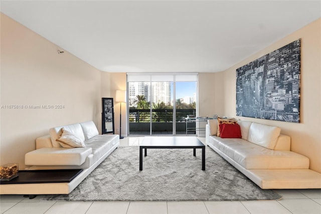
[[[236,69],[236,115],[300,122],[298,39]]]

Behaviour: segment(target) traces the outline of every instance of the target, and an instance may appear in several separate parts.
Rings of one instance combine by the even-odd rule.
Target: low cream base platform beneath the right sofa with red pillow
[[[215,152],[242,172],[262,189],[313,189],[321,188],[321,173],[310,169],[245,169],[212,144]]]

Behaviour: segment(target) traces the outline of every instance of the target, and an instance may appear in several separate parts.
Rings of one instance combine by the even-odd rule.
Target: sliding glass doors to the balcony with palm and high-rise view
[[[130,73],[127,80],[128,135],[186,134],[185,118],[197,112],[197,75]]]

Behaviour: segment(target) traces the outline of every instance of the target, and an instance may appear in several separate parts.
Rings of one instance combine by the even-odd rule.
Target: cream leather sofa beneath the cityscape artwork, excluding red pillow
[[[321,188],[321,174],[309,159],[290,151],[290,137],[280,128],[237,121],[241,138],[217,135],[217,120],[206,125],[206,143],[262,189]]]

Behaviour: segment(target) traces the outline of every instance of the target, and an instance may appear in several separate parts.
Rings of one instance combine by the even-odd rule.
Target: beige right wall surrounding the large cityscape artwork
[[[321,172],[321,19],[275,42],[223,73],[224,114],[235,117],[236,69],[301,38],[301,101],[299,124],[237,117],[240,120],[278,126],[291,137],[291,150],[310,159],[310,168]],[[218,92],[219,93],[219,92]]]

